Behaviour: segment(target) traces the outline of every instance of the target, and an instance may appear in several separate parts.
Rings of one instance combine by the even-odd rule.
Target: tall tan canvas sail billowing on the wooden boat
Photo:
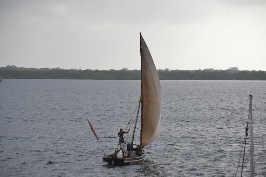
[[[158,72],[150,55],[150,51],[140,35],[142,60],[142,120],[140,145],[153,142],[160,129],[161,122],[161,85]]]

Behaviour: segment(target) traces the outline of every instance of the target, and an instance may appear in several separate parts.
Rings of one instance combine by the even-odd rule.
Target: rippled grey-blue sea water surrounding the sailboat
[[[103,150],[108,155],[117,147],[119,128],[137,106],[140,81],[3,79],[1,176],[235,176],[249,94],[255,172],[266,176],[265,81],[161,81],[161,88],[160,132],[145,148],[144,162],[112,167],[103,162]],[[249,176],[249,140],[245,157]]]

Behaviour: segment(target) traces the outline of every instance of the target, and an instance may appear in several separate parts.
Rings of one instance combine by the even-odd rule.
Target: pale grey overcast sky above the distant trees
[[[0,67],[266,71],[264,0],[0,0]]]

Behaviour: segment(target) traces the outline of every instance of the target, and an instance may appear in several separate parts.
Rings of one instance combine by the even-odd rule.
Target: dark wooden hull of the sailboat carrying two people
[[[137,155],[133,158],[117,158],[116,156],[115,157],[112,157],[113,154],[111,155],[108,155],[106,157],[103,157],[103,161],[111,164],[111,165],[129,165],[129,164],[138,164],[138,163],[141,163],[143,162],[143,160],[145,159],[145,151],[143,150],[143,154],[142,155]]]

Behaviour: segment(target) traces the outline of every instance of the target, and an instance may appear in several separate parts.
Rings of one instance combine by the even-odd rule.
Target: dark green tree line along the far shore
[[[158,70],[160,80],[266,80],[265,71],[239,71],[237,67],[227,70]],[[140,70],[81,70],[62,68],[24,68],[8,65],[0,68],[0,76],[6,79],[124,79],[139,80]]]

